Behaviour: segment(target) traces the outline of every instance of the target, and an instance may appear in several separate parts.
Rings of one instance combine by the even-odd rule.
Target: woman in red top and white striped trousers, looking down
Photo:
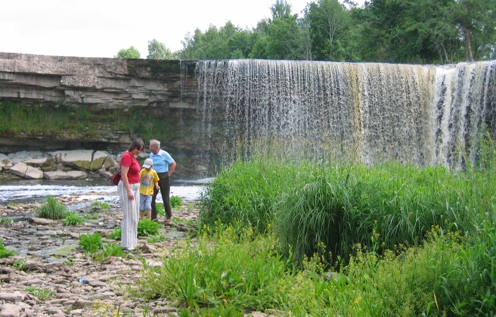
[[[142,139],[135,139],[121,157],[121,181],[117,192],[123,208],[121,247],[125,251],[136,249],[139,220],[139,171],[141,166],[136,156],[143,151]]]

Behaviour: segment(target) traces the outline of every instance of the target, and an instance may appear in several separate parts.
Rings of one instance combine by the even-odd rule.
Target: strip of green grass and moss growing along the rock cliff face
[[[134,107],[130,107],[123,115],[121,111],[101,109],[96,106],[66,107],[57,104],[31,107],[2,101],[0,133],[36,137],[40,134],[55,136],[63,130],[87,139],[91,138],[91,131],[108,128],[128,131],[131,134],[137,133],[143,139],[160,139],[178,133],[176,126],[169,124],[171,117],[170,111],[149,109],[145,111]],[[141,119],[146,125],[141,124]],[[102,209],[106,208],[105,205],[106,203],[102,203]]]

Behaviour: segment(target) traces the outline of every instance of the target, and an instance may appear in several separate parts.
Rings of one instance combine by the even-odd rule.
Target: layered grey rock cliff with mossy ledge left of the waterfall
[[[0,53],[3,115],[12,108],[29,111],[28,117],[48,117],[57,110],[66,122],[54,129],[4,124],[0,152],[22,147],[117,153],[135,137],[157,138],[180,161],[179,174],[207,173],[196,142],[201,103],[194,63]],[[47,119],[47,125],[55,124]]]

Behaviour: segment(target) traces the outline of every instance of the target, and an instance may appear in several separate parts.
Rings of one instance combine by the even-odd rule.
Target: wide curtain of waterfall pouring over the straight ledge
[[[460,153],[477,158],[483,125],[496,136],[495,68],[496,61],[200,61],[200,124],[206,138],[224,140],[217,147],[271,136],[295,148],[304,139],[315,153],[325,144],[368,164],[462,167]]]

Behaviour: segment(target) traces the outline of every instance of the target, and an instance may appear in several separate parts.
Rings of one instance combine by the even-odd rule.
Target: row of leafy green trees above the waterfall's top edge
[[[301,14],[276,0],[256,27],[228,21],[186,34],[171,52],[148,42],[148,59],[307,60],[443,64],[496,58],[496,0],[318,0]],[[130,47],[116,57],[140,58]]]

